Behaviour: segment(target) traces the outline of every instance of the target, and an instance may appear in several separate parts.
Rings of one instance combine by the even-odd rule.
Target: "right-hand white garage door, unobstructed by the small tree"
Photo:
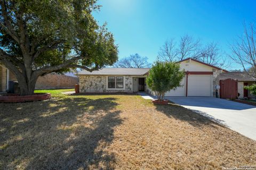
[[[188,96],[211,96],[212,75],[188,75]]]

